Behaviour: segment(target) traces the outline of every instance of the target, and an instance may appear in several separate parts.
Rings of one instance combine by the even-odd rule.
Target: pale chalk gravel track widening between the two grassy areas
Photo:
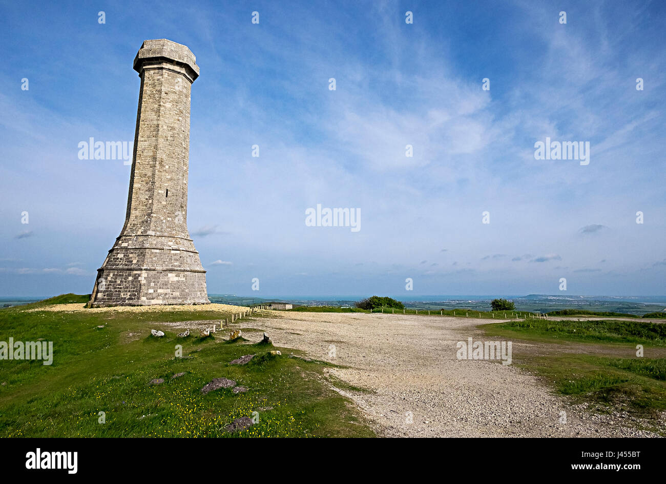
[[[328,371],[348,385],[370,391],[337,390],[362,409],[379,435],[658,437],[634,429],[635,421],[626,415],[595,415],[583,405],[568,405],[513,365],[459,361],[458,341],[484,340],[475,328],[479,321],[472,318],[267,313],[269,317],[244,325],[266,331],[277,346],[344,366]],[[244,337],[258,339],[260,333]],[[513,357],[526,346],[514,342]],[[336,379],[332,381],[335,387]],[[566,413],[566,423],[560,422],[561,412]]]

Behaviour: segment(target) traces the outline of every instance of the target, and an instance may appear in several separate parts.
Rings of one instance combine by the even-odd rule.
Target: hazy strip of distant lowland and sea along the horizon
[[[51,296],[43,297],[0,297],[0,308],[35,303]],[[212,303],[254,305],[280,301],[301,306],[353,307],[356,301],[365,296],[238,296],[234,294],[209,294]],[[589,311],[615,311],[643,315],[666,311],[666,296],[573,296],[573,295],[432,295],[394,296],[406,307],[412,309],[476,309],[490,310],[490,301],[497,297],[509,299],[519,311],[557,311],[557,309],[587,309]]]

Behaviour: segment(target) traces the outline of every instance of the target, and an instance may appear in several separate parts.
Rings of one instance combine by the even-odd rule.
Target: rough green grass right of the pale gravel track
[[[516,351],[513,362],[536,373],[573,403],[587,403],[595,411],[627,411],[645,419],[647,427],[664,433],[651,422],[666,411],[666,359],[609,357],[633,354],[637,344],[645,354],[666,342],[666,327],[641,321],[547,321],[527,319],[482,325],[488,337],[565,345],[569,351]],[[576,353],[576,344],[585,343]],[[592,348],[590,348],[592,345]],[[626,350],[626,351],[625,351]],[[546,353],[546,356],[543,354]]]

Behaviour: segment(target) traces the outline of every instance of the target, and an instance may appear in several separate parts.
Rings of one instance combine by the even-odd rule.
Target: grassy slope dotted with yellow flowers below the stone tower
[[[69,302],[64,295],[59,302]],[[47,305],[49,301],[31,307]],[[73,299],[73,298],[72,298]],[[85,302],[85,301],[77,301]],[[0,341],[53,341],[53,365],[0,363],[0,437],[228,437],[224,425],[258,412],[238,437],[372,437],[352,403],[324,383],[323,365],[270,355],[272,345],[176,337],[163,321],[223,319],[218,311],[62,313],[0,310]],[[241,324],[247,325],[242,320]],[[103,325],[102,328],[98,328]],[[162,329],[162,338],[150,336]],[[131,335],[141,331],[141,336]],[[182,358],[175,357],[182,345]],[[228,365],[256,354],[247,365]],[[176,373],[185,375],[176,379]],[[247,387],[238,395],[200,389],[215,377]],[[161,385],[149,385],[163,378]],[[105,423],[99,423],[105,412]]]

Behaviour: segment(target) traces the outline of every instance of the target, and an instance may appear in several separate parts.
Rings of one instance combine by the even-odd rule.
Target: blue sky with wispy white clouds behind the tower
[[[0,295],[91,291],[130,167],[78,143],[131,143],[133,59],[160,38],[201,69],[188,227],[209,293],[561,294],[561,277],[569,294],[666,293],[662,2],[159,10],[0,3]],[[535,159],[546,137],[589,141],[589,165]],[[306,226],[318,203],[360,209],[360,231]]]

